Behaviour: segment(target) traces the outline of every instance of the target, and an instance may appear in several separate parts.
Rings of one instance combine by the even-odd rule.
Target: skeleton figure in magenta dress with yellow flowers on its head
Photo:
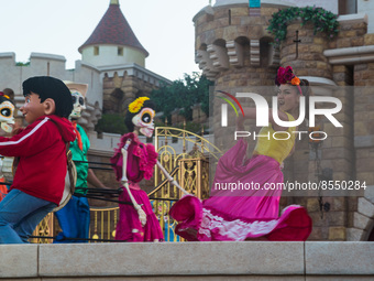
[[[129,105],[125,116],[125,125],[129,133],[121,137],[119,149],[116,149],[111,163],[114,164],[117,180],[122,177],[123,158],[121,148],[128,139],[131,144],[128,148],[127,177],[131,194],[146,214],[146,224],[142,226],[134,206],[120,204],[120,217],[116,229],[116,240],[162,241],[164,239],[160,223],[153,213],[148,196],[141,190],[139,182],[143,179],[150,180],[153,175],[153,167],[157,162],[157,152],[152,144],[142,143],[139,132],[152,137],[154,130],[154,104],[147,97],[140,97]],[[131,202],[129,193],[124,190],[119,197],[120,201]]]

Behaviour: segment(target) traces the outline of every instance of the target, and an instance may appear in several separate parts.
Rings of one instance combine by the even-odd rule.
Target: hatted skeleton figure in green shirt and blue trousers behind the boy
[[[76,183],[76,195],[73,195],[70,201],[65,205],[64,208],[56,212],[62,233],[56,237],[55,242],[86,242],[87,240],[72,240],[66,238],[88,238],[89,233],[89,205],[88,199],[85,196],[87,191],[87,151],[90,147],[89,139],[80,125],[77,123],[77,119],[80,118],[81,111],[86,109],[85,96],[87,93],[87,84],[78,84],[73,82],[65,82],[66,86],[70,89],[74,109],[70,114],[72,123],[76,132],[77,139],[70,142],[69,150],[72,151],[73,161],[77,169],[77,183]]]

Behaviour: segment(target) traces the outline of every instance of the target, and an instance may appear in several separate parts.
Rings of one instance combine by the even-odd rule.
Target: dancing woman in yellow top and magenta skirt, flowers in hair
[[[278,117],[294,121],[299,115],[299,97],[310,95],[309,83],[297,78],[290,66],[279,67],[276,84],[278,90]],[[308,104],[308,102],[306,102]],[[255,109],[245,108],[248,119],[255,118]],[[237,120],[238,130],[244,130],[244,118]],[[246,159],[248,143],[240,139],[218,162],[213,186],[222,183],[254,183],[260,188],[237,191],[213,191],[202,203],[187,195],[170,209],[170,216],[179,221],[175,233],[195,241],[211,240],[306,240],[311,233],[311,218],[307,210],[292,205],[279,213],[282,190],[266,190],[271,184],[283,183],[280,165],[293,153],[295,127],[283,128],[273,120],[270,110],[270,125],[260,134],[278,131],[277,139],[286,139],[280,131],[290,134],[288,140],[258,138],[253,156]],[[284,133],[285,134],[285,133]]]

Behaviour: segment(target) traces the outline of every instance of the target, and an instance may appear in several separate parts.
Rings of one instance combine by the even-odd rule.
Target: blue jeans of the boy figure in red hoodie
[[[10,191],[0,202],[0,244],[28,242],[38,223],[56,206],[19,190]]]

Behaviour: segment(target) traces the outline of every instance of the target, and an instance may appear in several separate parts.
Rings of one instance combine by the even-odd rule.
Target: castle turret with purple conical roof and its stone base
[[[103,114],[123,114],[140,95],[150,95],[164,77],[145,68],[148,52],[124,18],[119,0],[109,8],[89,39],[79,47],[81,58],[100,71]]]

